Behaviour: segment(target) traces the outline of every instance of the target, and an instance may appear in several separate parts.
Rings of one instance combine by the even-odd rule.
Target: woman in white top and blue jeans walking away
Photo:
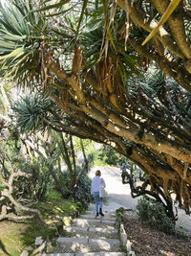
[[[96,217],[98,215],[100,216],[104,216],[103,212],[102,212],[102,207],[103,207],[103,198],[101,196],[101,198],[99,198],[99,191],[100,188],[103,187],[105,188],[105,181],[101,176],[101,172],[99,170],[96,171],[96,176],[93,177],[92,179],[92,185],[91,185],[91,194],[94,196],[95,198],[95,204],[96,204]],[[99,204],[99,211],[98,211],[98,204]]]

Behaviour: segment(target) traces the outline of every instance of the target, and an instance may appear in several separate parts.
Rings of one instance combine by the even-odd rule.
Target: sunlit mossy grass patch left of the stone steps
[[[14,221],[0,222],[0,255],[19,256],[25,249],[32,251],[36,237],[52,240],[58,235],[64,236],[63,218],[76,213],[84,213],[86,206],[81,202],[63,199],[60,194],[51,191],[46,202],[38,202],[32,206],[39,209],[46,225],[38,218],[16,223]]]

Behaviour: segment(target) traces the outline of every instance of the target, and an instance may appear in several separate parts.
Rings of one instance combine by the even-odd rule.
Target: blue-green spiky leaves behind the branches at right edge
[[[144,94],[144,97],[149,99],[150,106],[153,107],[153,104],[165,108],[168,106],[169,101],[176,105],[176,107],[182,112],[188,108],[190,105],[191,93],[182,89],[179,83],[172,78],[167,77],[162,71],[158,68],[153,68],[149,73],[142,73],[142,76],[132,76],[128,80],[127,90],[128,94],[133,97],[141,97]],[[145,99],[143,101],[146,103]],[[141,105],[140,98],[138,98],[139,106]],[[148,108],[150,106],[147,106]],[[144,107],[146,107],[144,105]],[[170,108],[166,107],[170,112]],[[187,110],[186,110],[187,111]],[[189,111],[188,111],[189,112]]]

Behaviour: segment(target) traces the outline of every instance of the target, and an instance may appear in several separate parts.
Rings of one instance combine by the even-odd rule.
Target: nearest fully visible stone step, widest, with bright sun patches
[[[120,251],[120,243],[117,239],[89,239],[89,238],[66,238],[56,240],[53,253],[65,252],[109,252]]]

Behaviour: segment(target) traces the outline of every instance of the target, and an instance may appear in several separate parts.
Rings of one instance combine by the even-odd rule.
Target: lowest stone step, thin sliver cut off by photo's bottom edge
[[[40,256],[125,256],[124,252],[50,253]]]

